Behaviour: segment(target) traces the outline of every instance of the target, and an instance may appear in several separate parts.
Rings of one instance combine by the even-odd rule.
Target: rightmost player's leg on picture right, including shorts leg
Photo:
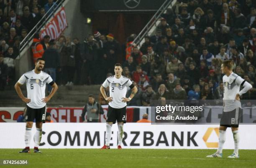
[[[233,133],[233,139],[234,139],[234,145],[235,145],[235,149],[232,155],[228,156],[228,158],[239,158],[239,154],[238,154],[238,149],[239,149],[239,134],[238,134],[238,126],[240,123],[240,116],[241,116],[241,112],[242,109],[241,108],[236,108],[236,110],[233,111],[233,124],[231,125],[231,130]]]

